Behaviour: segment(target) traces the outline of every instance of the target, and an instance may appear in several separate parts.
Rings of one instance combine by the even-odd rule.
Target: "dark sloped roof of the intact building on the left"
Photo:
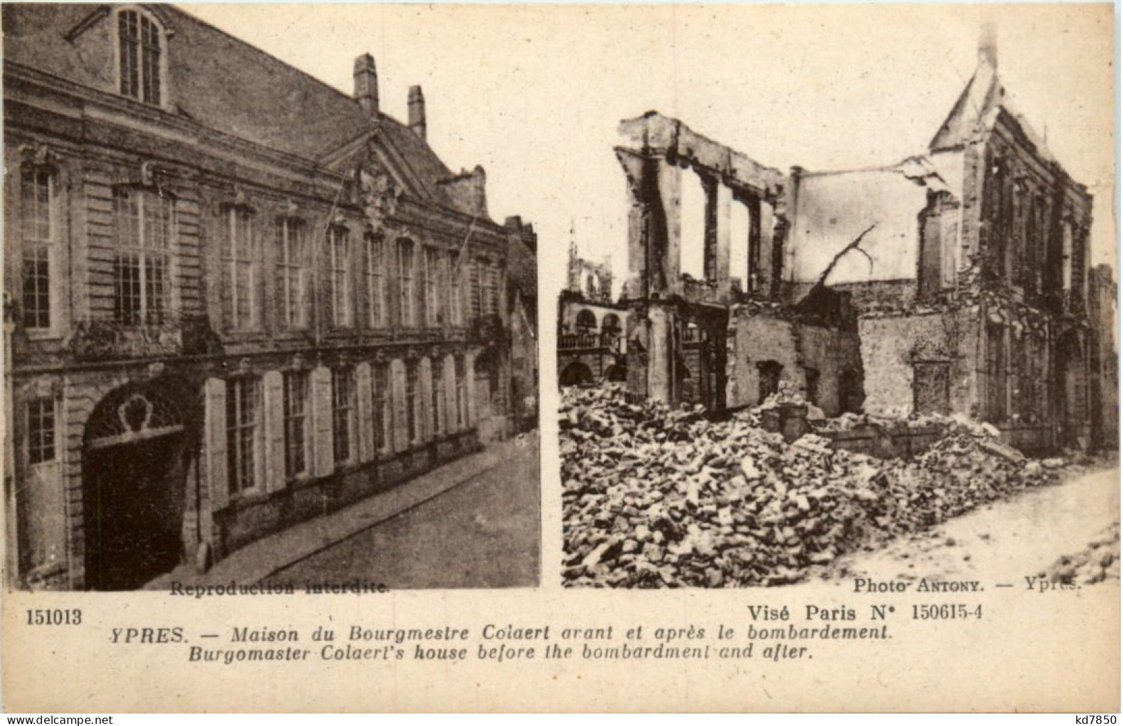
[[[91,59],[67,35],[108,6],[6,3],[4,59],[101,91],[115,92],[111,64]],[[171,30],[172,112],[203,127],[319,160],[376,126],[410,165],[432,199],[453,205],[437,182],[453,174],[407,126],[381,113],[375,123],[358,102],[248,43],[172,6],[149,6]],[[104,18],[101,19],[104,22]],[[103,31],[103,30],[102,30]],[[111,48],[108,49],[112,52]]]

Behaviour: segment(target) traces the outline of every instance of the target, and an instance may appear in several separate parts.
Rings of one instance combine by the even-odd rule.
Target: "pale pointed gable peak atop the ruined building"
[[[959,94],[951,113],[932,137],[929,149],[939,151],[967,144],[979,134],[993,129],[1002,111],[1017,122],[1025,137],[1046,159],[1052,159],[1044,139],[1038,136],[1029,119],[1017,111],[998,76],[998,70],[985,57],[979,58],[975,74]]]

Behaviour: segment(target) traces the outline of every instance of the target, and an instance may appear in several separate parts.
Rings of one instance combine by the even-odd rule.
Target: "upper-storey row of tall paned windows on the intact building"
[[[124,17],[124,16],[122,16]],[[52,285],[61,284],[57,261],[60,211],[56,178],[46,166],[25,166],[21,173],[20,230],[24,249],[22,322],[27,330],[51,330],[56,315]],[[263,250],[255,233],[255,214],[247,206],[223,210],[221,245],[221,314],[227,330],[262,327]],[[176,201],[158,191],[120,186],[113,190],[117,250],[112,259],[113,320],[124,325],[158,324],[172,310],[175,260]],[[311,310],[310,224],[295,217],[276,219],[274,285],[277,321],[291,330],[307,329]],[[442,327],[465,324],[472,315],[500,312],[500,268],[469,259],[457,250],[366,233],[354,249],[347,228],[331,226],[322,246],[326,263],[326,316],[335,328],[389,328],[391,286],[396,288],[396,324]],[[356,257],[359,259],[356,260]],[[363,290],[353,291],[358,261]],[[396,281],[390,278],[391,263]],[[465,286],[471,291],[465,300]],[[357,292],[357,295],[356,295]],[[357,305],[354,304],[357,297]],[[356,310],[357,309],[357,310]]]

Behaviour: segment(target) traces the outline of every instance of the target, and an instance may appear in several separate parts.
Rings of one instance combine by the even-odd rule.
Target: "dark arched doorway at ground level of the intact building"
[[[90,415],[82,449],[88,588],[136,589],[182,561],[193,396],[179,382],[127,384]]]

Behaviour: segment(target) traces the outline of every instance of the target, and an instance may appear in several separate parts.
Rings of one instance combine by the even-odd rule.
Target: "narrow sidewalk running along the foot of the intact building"
[[[531,432],[530,435],[538,435]],[[219,561],[206,573],[191,564],[181,564],[145,585],[146,590],[168,590],[172,582],[185,586],[238,585],[259,582],[271,575],[326,548],[412,509],[509,459],[517,449],[531,445],[527,434],[500,441],[477,453],[403,481],[331,514],[295,524],[247,544]]]

